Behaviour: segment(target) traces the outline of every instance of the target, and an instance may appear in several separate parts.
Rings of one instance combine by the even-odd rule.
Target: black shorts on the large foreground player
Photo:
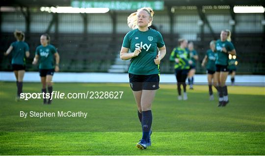
[[[129,79],[132,91],[159,89],[159,74],[135,75],[129,73]]]

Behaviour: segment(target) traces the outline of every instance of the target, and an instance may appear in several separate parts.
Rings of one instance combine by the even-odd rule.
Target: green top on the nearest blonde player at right
[[[222,42],[220,39],[216,41],[217,59],[215,64],[228,65],[228,53],[222,52],[222,48],[225,47],[227,51],[235,49],[234,45],[229,41]]]

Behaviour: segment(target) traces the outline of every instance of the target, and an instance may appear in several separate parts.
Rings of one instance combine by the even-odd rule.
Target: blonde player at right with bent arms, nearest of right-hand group
[[[219,91],[219,104],[220,106],[226,106],[229,102],[227,86],[225,85],[228,75],[228,55],[236,55],[234,45],[231,43],[231,32],[229,30],[221,31],[220,39],[216,41],[217,59],[216,64],[216,76],[218,80]]]

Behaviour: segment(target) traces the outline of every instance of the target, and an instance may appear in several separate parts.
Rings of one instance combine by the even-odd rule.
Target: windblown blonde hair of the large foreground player
[[[148,24],[148,27],[150,27],[152,25],[153,16],[154,16],[153,9],[150,7],[142,7],[142,8],[139,8],[136,12],[131,13],[130,16],[128,16],[127,24],[128,24],[129,28],[132,28],[132,29],[138,28],[138,26],[137,26],[137,13],[142,11],[142,10],[146,11],[151,18],[151,22]]]

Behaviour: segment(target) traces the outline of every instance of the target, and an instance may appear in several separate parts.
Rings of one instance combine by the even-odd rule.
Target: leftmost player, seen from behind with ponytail
[[[12,69],[17,80],[17,96],[16,101],[20,100],[20,94],[23,92],[23,78],[25,74],[25,56],[29,57],[29,48],[25,40],[25,34],[22,31],[15,31],[14,35],[17,41],[12,42],[7,51],[4,53],[7,56],[12,52]]]

